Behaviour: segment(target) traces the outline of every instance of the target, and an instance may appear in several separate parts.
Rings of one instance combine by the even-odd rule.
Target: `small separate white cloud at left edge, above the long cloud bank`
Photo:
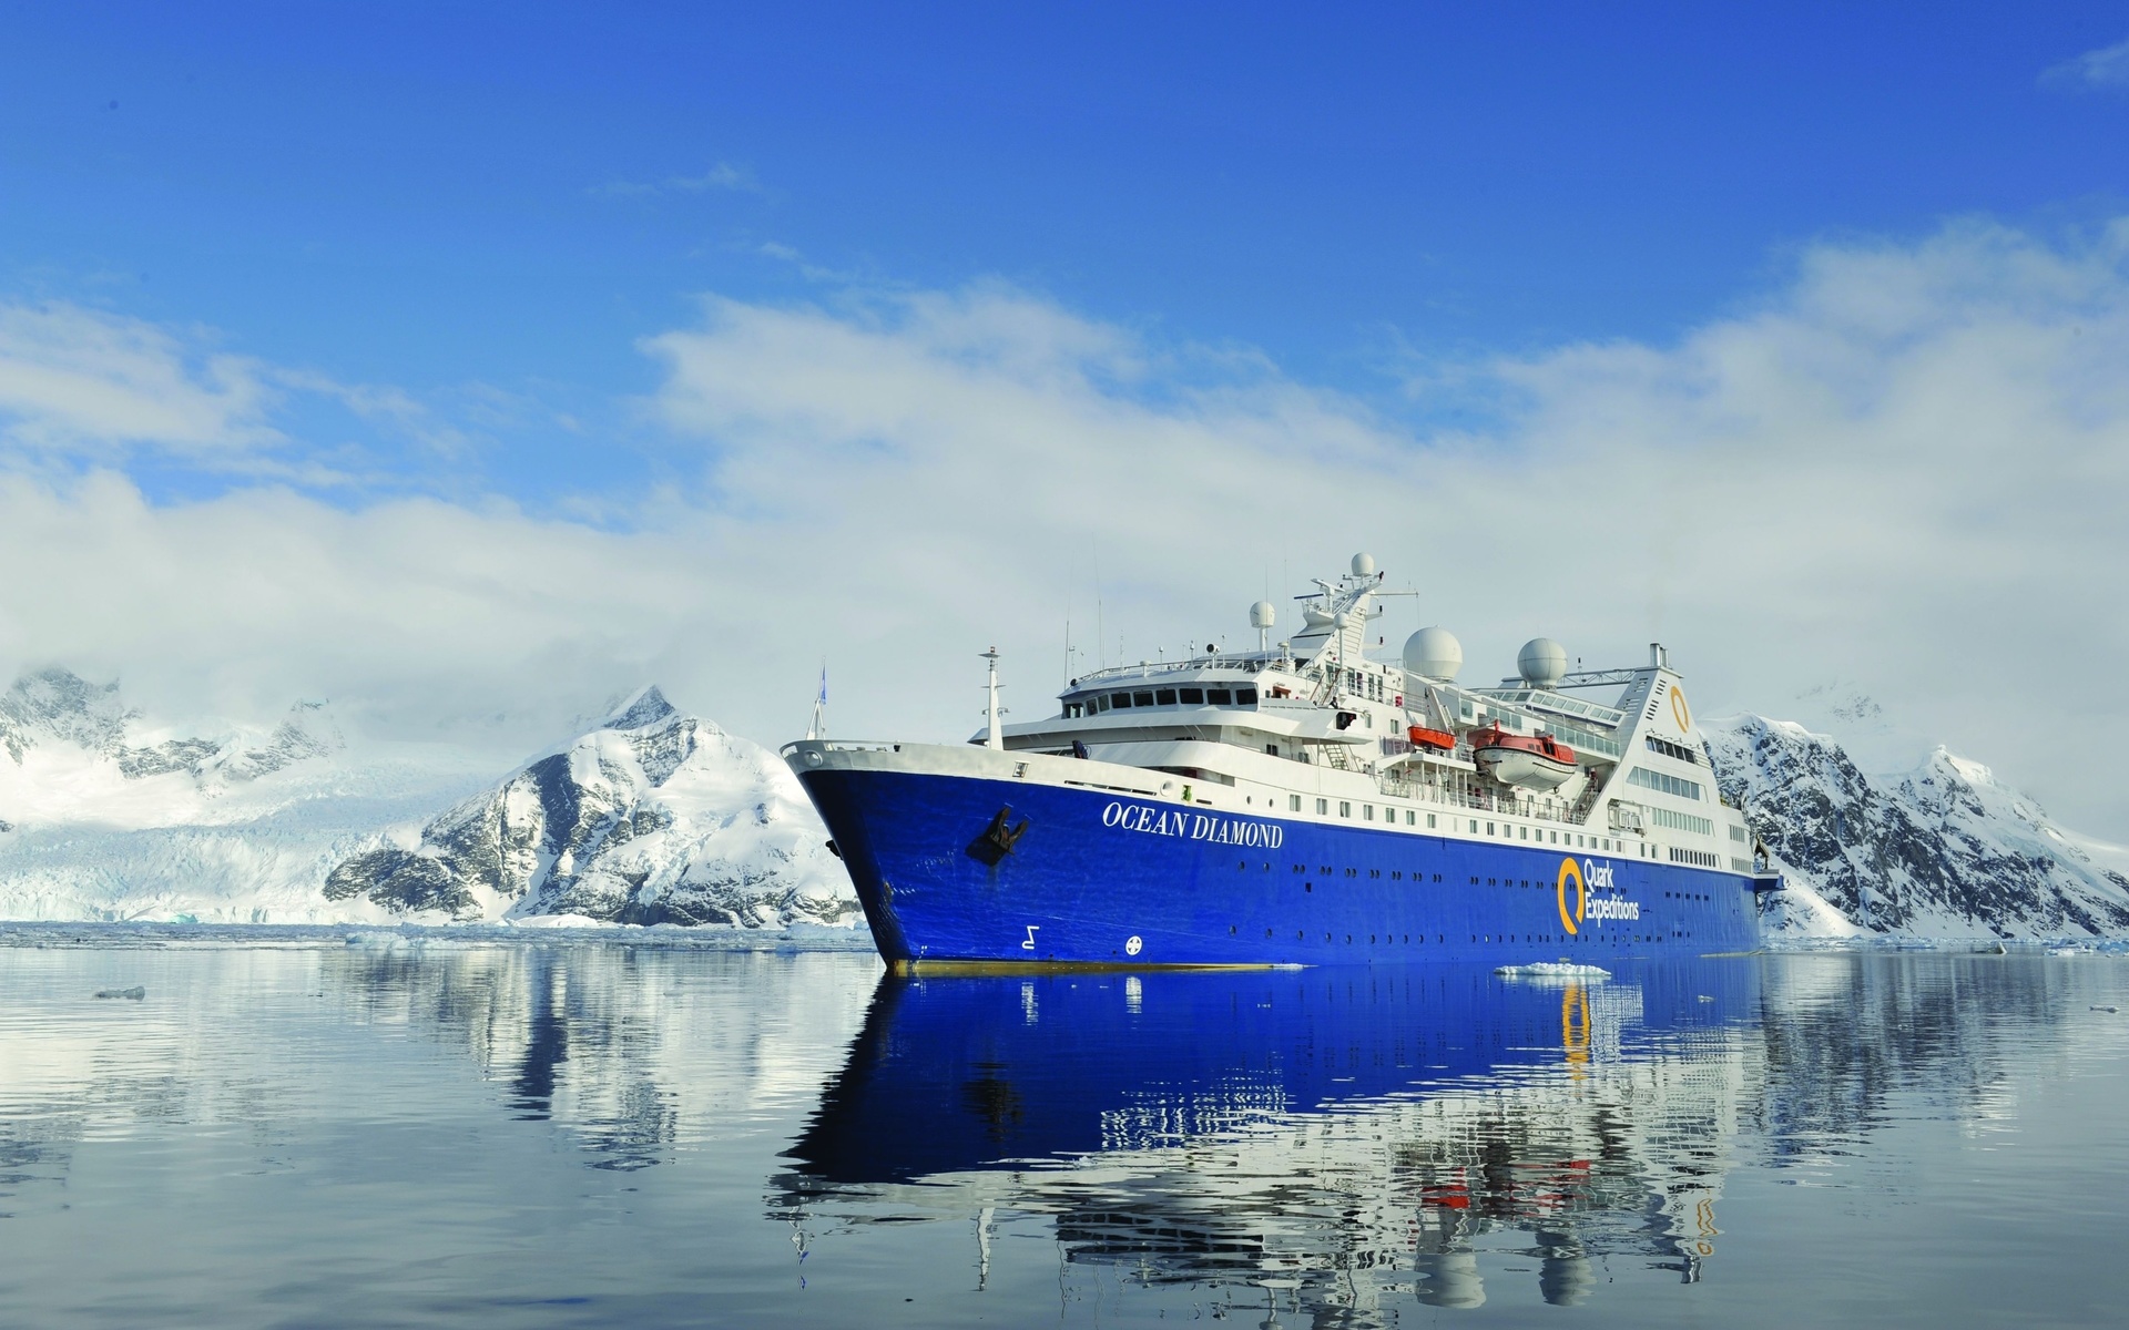
[[[0,438],[226,453],[279,440],[258,362],[75,304],[0,304]]]

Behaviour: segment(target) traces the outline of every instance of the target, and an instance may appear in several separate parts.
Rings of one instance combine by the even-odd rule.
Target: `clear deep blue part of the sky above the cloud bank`
[[[2118,4],[81,4],[9,30],[0,287],[394,385],[477,447],[324,402],[304,426],[537,506],[675,466],[617,402],[698,292],[1005,279],[1431,419],[1469,402],[1401,392],[1412,358],[1667,340],[1816,238],[2089,226],[2129,181],[2129,104],[2042,81],[2129,36]]]

